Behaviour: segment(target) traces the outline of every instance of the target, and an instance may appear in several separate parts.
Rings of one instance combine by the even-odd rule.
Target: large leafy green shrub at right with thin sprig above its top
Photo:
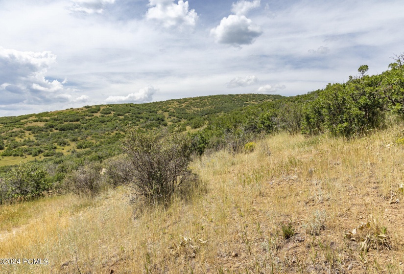
[[[367,66],[358,71],[360,78],[345,84],[329,84],[309,103],[303,113],[303,132],[352,137],[367,130],[380,128],[384,123],[384,100],[380,92],[380,76],[367,76]]]

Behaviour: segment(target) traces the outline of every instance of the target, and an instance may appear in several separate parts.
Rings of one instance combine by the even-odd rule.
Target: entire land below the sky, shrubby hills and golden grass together
[[[7,273],[402,274],[396,61],[292,97],[2,118],[23,154],[1,160],[0,258],[48,262]]]

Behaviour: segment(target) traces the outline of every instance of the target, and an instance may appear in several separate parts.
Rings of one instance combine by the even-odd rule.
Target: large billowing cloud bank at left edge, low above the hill
[[[70,97],[63,82],[48,80],[48,68],[56,62],[50,51],[32,52],[0,47],[0,87],[2,101],[42,104],[53,99],[66,101]]]

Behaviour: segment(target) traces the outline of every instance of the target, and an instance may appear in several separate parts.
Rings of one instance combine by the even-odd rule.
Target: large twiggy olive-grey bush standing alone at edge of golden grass
[[[179,189],[197,182],[188,165],[191,138],[166,129],[140,133],[128,130],[123,150],[133,170],[132,186],[136,194],[150,202],[168,202]]]

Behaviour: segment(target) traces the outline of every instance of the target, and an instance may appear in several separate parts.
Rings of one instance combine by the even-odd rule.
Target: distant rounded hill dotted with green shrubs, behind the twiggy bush
[[[117,153],[118,141],[128,126],[141,130],[175,126],[196,129],[214,116],[280,98],[265,94],[212,95],[0,117],[0,166],[29,160],[56,164],[77,159],[101,161]]]

